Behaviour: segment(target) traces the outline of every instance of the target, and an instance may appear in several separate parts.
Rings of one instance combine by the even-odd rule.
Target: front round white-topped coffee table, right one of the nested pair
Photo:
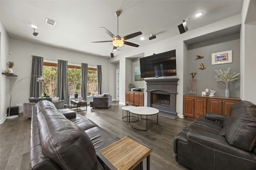
[[[148,130],[148,120],[153,121],[151,119],[148,119],[148,115],[157,115],[156,122],[155,121],[153,121],[153,122],[158,124],[158,113],[159,113],[159,110],[154,108],[154,107],[144,107],[144,106],[131,107],[129,109],[129,115],[130,115],[130,113],[134,113],[136,115],[140,115],[140,119],[142,119],[142,116],[146,116],[146,129],[137,129],[135,127],[132,127],[132,125],[130,124],[130,121],[129,121],[129,125],[133,129],[137,129],[137,130],[140,130],[140,131],[147,131]]]

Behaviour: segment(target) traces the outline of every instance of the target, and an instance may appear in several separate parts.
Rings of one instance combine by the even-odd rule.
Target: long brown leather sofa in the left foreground
[[[46,100],[33,107],[30,169],[104,169],[96,152],[119,138],[80,114],[66,116]]]

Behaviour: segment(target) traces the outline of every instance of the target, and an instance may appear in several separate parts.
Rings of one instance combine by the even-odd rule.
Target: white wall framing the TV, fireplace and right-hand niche
[[[184,70],[185,71],[187,70],[186,69],[187,62],[184,61],[184,59],[186,59],[187,57],[187,49],[186,49],[186,45],[184,45],[184,41],[188,39],[200,37],[202,35],[207,35],[209,33],[213,33],[221,29],[234,27],[235,25],[240,25],[240,24],[241,24],[241,15],[238,14],[238,15],[226,18],[224,20],[211,23],[209,25],[205,25],[198,29],[194,29],[191,31],[187,31],[186,33],[183,33],[183,34],[170,37],[163,41],[154,43],[152,45],[135,49],[133,51],[130,51],[129,53],[125,53],[125,54],[116,56],[114,58],[111,58],[109,59],[109,61],[115,62],[120,60],[120,77],[122,77],[122,75],[126,75],[126,74],[123,74],[125,73],[124,66],[126,63],[125,62],[121,63],[121,61],[123,61],[124,58],[135,56],[140,53],[144,53],[145,56],[149,56],[149,55],[152,55],[153,53],[157,54],[157,53],[162,53],[165,51],[176,49],[177,76],[165,77],[165,78],[179,78],[178,88],[177,88],[178,94],[177,94],[177,100],[176,100],[176,111],[178,112],[179,117],[183,117],[183,95],[184,95],[184,81],[185,81]],[[120,82],[120,103],[125,103],[125,88],[126,88],[126,85],[124,84],[124,87],[122,87],[122,84]],[[145,84],[145,90],[146,90],[146,84]],[[145,95],[144,103],[146,103],[147,95],[146,93],[144,95]]]

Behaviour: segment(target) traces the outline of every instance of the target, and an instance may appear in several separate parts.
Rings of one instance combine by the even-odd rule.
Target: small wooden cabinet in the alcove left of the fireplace
[[[144,92],[127,91],[125,94],[125,102],[128,105],[144,106]]]

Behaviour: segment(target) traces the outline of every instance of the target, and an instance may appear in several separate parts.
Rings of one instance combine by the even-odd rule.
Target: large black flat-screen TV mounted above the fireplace
[[[176,76],[176,50],[140,58],[140,77]]]

